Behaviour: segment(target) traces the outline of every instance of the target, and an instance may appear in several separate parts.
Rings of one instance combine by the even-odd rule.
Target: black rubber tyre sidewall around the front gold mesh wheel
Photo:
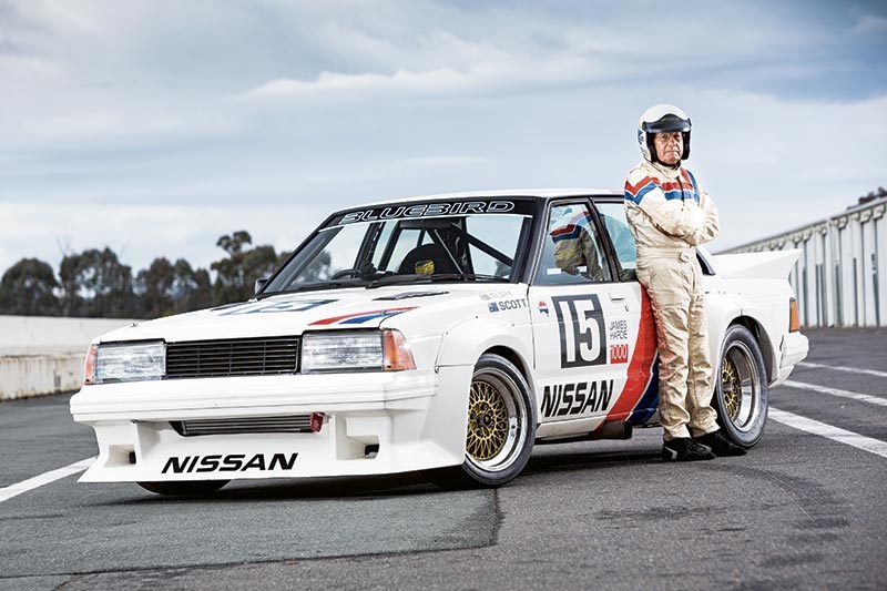
[[[526,409],[526,416],[522,421],[522,429],[524,430],[523,441],[517,452],[517,458],[514,458],[510,466],[502,470],[493,471],[485,470],[482,467],[471,462],[468,458],[462,462],[461,471],[471,481],[481,486],[496,487],[504,485],[518,476],[530,459],[533,441],[536,440],[536,400],[523,374],[521,374],[511,361],[498,355],[481,355],[480,359],[478,359],[478,363],[475,365],[471,380],[473,381],[475,376],[487,368],[495,368],[502,371],[517,385],[518,395],[522,398],[523,408]],[[468,409],[466,409],[466,411],[468,411]]]

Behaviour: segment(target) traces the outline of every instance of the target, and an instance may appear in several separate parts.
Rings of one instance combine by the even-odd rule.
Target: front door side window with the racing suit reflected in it
[[[553,205],[536,283],[574,285],[612,281],[588,204]]]

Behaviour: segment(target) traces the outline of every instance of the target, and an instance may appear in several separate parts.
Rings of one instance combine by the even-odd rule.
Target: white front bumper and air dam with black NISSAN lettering
[[[85,386],[85,482],[383,475],[460,465],[471,367]],[[171,421],[322,412],[317,432],[182,436]]]

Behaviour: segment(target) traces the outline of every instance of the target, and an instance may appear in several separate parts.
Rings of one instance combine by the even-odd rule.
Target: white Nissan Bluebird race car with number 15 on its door
[[[712,256],[714,406],[750,448],[807,354],[797,252]],[[329,216],[248,302],[96,338],[81,481],[208,493],[233,479],[428,470],[498,486],[534,444],[657,425],[656,335],[622,194],[478,192]]]

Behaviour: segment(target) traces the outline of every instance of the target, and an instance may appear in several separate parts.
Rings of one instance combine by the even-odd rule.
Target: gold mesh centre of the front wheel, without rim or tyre
[[[487,381],[472,381],[466,451],[480,461],[490,460],[502,451],[508,431],[508,408],[501,393]]]

